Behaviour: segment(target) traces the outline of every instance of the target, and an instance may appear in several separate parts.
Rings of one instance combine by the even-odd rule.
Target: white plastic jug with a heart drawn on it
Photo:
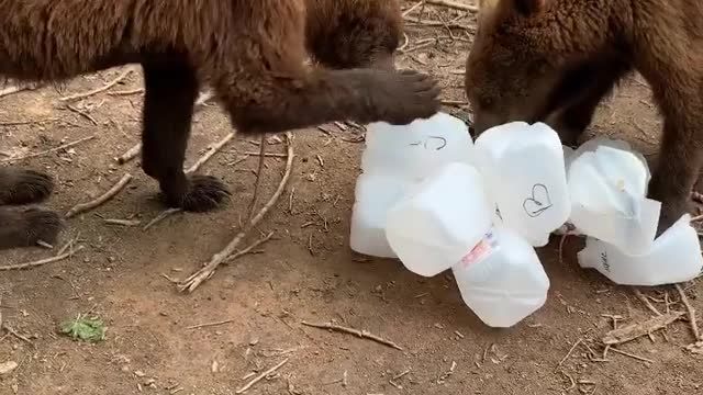
[[[544,123],[512,122],[486,131],[475,148],[503,224],[533,246],[545,246],[571,212],[557,133]]]

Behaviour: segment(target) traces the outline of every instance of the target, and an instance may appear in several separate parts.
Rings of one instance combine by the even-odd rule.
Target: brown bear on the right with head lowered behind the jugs
[[[565,144],[628,72],[651,86],[663,137],[648,194],[658,234],[689,210],[703,165],[703,2],[484,0],[466,68],[475,129],[542,121]]]

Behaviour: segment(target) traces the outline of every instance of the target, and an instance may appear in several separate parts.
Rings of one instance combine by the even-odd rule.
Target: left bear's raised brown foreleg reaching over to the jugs
[[[439,111],[439,88],[415,71],[314,69],[294,77],[248,76],[247,91],[219,87],[242,134],[278,133],[334,121],[406,125]]]

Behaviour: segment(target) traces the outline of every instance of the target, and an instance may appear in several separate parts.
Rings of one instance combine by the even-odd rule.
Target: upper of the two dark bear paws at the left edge
[[[47,173],[22,167],[0,168],[0,205],[38,203],[54,191]]]

